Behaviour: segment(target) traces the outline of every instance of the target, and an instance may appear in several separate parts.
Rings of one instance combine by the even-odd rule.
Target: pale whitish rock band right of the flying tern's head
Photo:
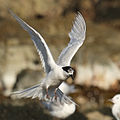
[[[114,63],[81,65],[77,68],[77,73],[76,84],[97,86],[102,89],[113,88],[112,86],[117,85],[117,80],[120,79],[120,70]]]

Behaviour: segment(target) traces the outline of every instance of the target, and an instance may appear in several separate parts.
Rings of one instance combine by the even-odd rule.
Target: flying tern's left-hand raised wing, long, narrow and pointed
[[[23,27],[23,29],[30,34],[32,41],[40,55],[40,58],[44,67],[44,71],[46,73],[49,73],[51,68],[55,66],[55,62],[45,40],[36,30],[34,30],[21,18],[16,16],[11,10],[9,10],[9,12],[17,20],[17,22]]]

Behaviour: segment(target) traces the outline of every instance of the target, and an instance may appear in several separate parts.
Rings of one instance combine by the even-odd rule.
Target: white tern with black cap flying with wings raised
[[[75,71],[70,66],[70,63],[75,53],[82,46],[86,36],[86,24],[82,15],[80,13],[77,14],[71,32],[69,33],[70,42],[67,47],[62,50],[57,62],[55,62],[43,37],[12,11],[10,11],[10,13],[31,36],[46,73],[46,77],[42,79],[39,84],[25,90],[13,92],[13,94],[20,98],[38,97],[39,100],[49,99],[51,97],[55,97],[55,99],[57,97],[68,99],[58,87],[69,77],[74,79]],[[54,92],[54,96],[52,92]]]

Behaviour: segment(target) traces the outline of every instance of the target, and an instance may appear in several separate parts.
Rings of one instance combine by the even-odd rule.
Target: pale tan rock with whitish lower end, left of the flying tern
[[[12,41],[12,40],[11,40]],[[13,40],[14,41],[14,40]],[[15,40],[17,41],[17,40]],[[16,43],[16,44],[15,44]],[[9,45],[4,47],[4,56],[1,56],[1,74],[3,81],[3,88],[6,88],[5,94],[10,94],[17,75],[24,69],[40,69],[35,61],[38,60],[37,54],[34,54],[33,46],[19,45],[17,42],[8,43]]]

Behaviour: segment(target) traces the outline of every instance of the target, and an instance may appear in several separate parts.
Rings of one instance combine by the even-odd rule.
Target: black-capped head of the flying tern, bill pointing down
[[[62,67],[63,71],[67,74],[68,77],[71,77],[72,80],[75,78],[75,69],[70,66]]]

